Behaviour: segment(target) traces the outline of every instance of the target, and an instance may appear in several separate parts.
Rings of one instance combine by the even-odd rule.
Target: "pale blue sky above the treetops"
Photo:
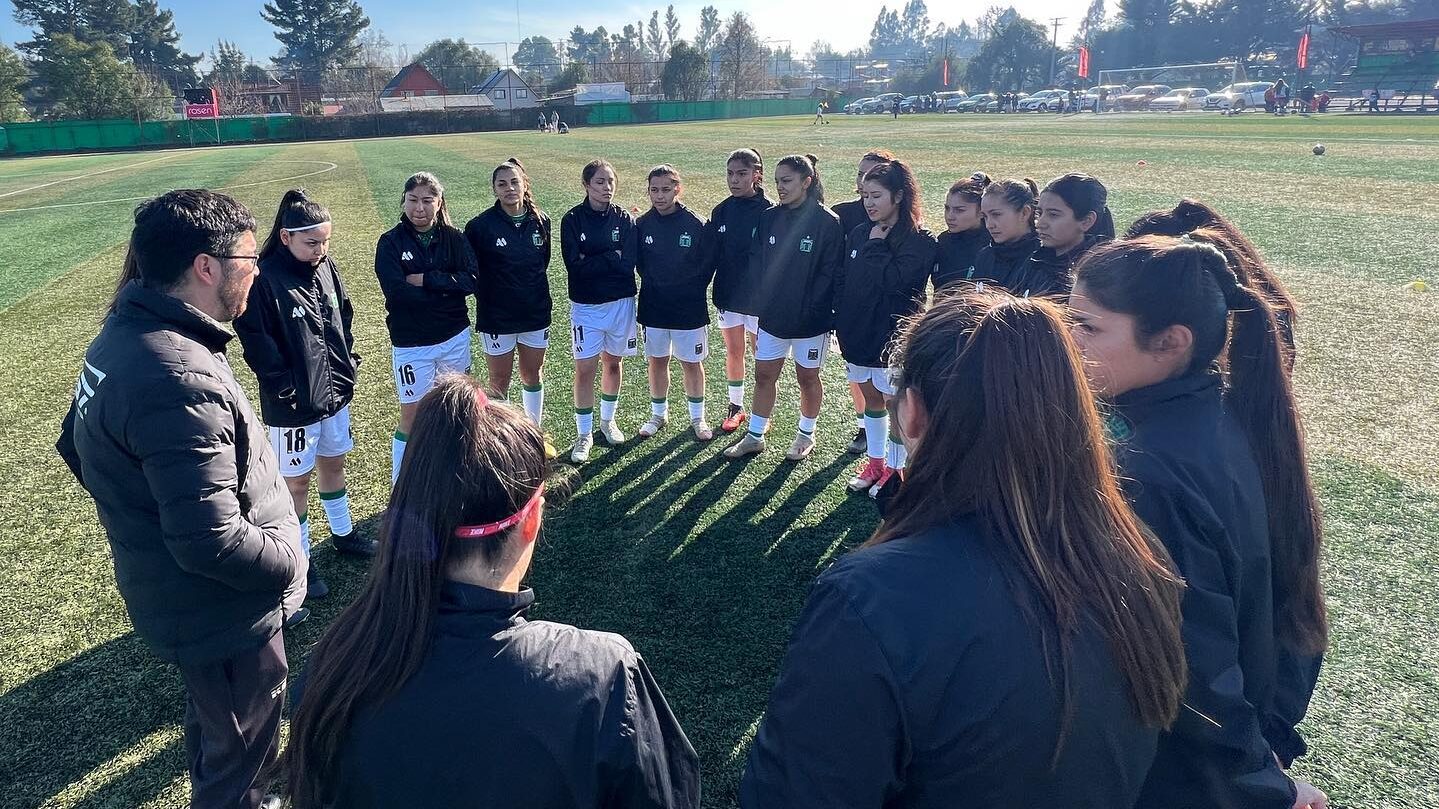
[[[996,0],[997,1],[997,0]],[[694,35],[699,23],[699,9],[714,4],[720,13],[745,12],[754,20],[760,35],[768,39],[787,40],[796,55],[809,50],[816,39],[825,39],[840,50],[858,48],[868,42],[869,27],[884,0],[681,0],[675,13],[682,23],[681,36]],[[960,19],[979,17],[990,0],[983,3],[930,1],[931,22],[958,24]],[[217,39],[236,42],[246,53],[263,62],[275,55],[279,43],[273,29],[260,19],[260,1],[216,1],[216,0],[160,0],[161,7],[174,12],[176,29],[181,46],[194,52],[209,52]],[[396,45],[407,45],[414,53],[425,43],[442,36],[465,37],[472,43],[495,43],[486,46],[504,60],[501,42],[517,43],[524,36],[543,35],[551,39],[563,37],[576,24],[587,29],[606,26],[614,32],[626,22],[649,20],[653,9],[663,19],[666,3],[649,1],[600,1],[593,0],[491,0],[491,1],[440,1],[440,0],[360,0],[371,27],[378,27]],[[904,0],[891,0],[904,4]],[[1061,26],[1061,40],[1072,32],[1075,22],[1084,14],[1088,0],[1014,0],[1020,13],[1048,19],[1066,16],[1068,24]],[[3,3],[0,19],[0,40],[14,45],[29,39],[26,30],[10,16],[10,3]],[[835,13],[842,7],[843,13]],[[517,27],[518,12],[518,27]],[[514,48],[514,45],[511,45]]]

